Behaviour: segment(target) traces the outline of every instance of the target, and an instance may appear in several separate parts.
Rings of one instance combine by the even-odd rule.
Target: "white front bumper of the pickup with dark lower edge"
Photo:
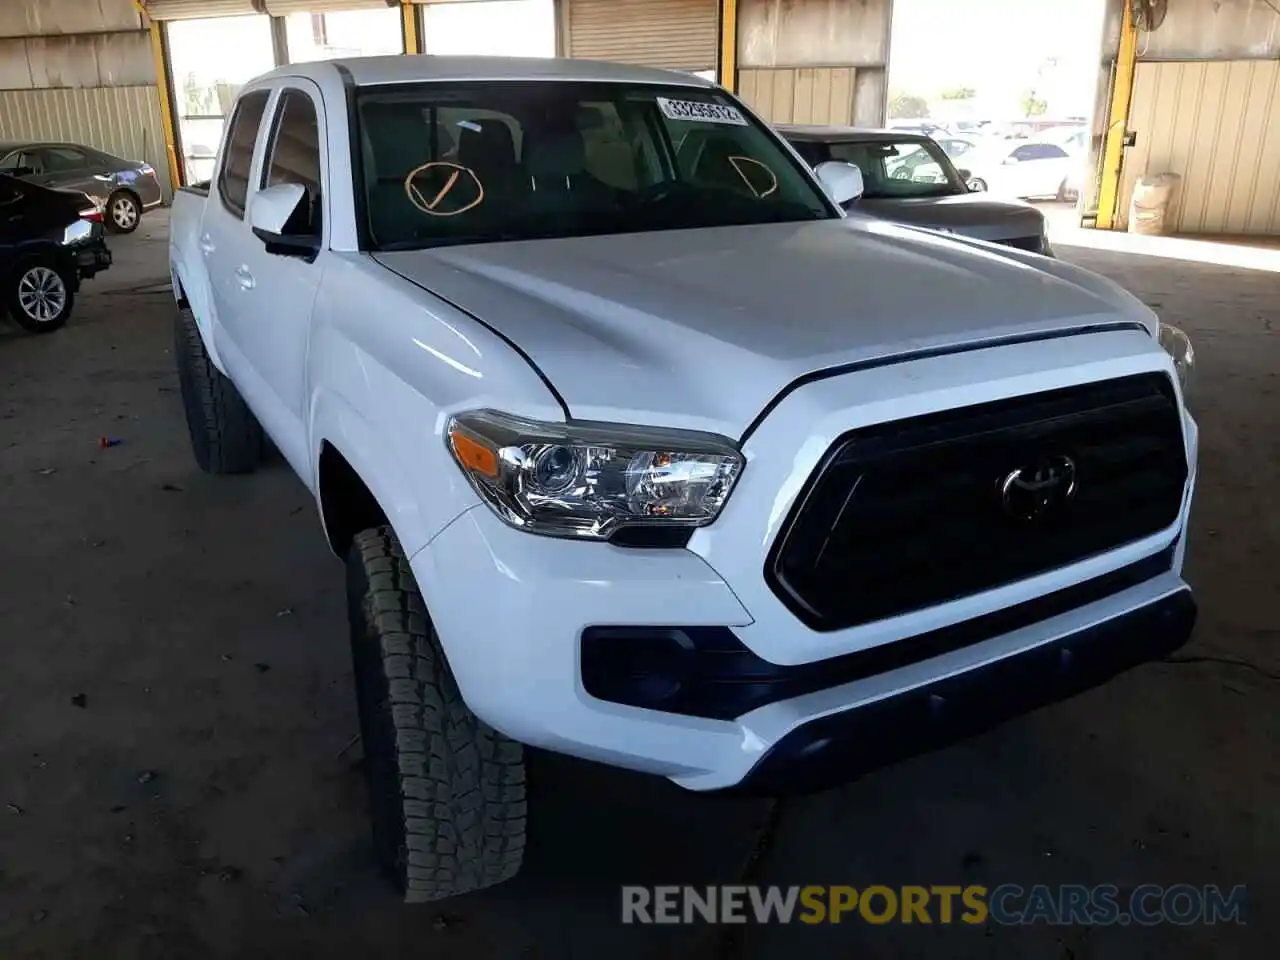
[[[477,506],[412,567],[463,699],[507,736],[690,790],[788,792],[850,780],[1181,645],[1193,609],[1183,545],[1158,554],[1172,567],[1112,595],[731,719],[611,703],[582,682],[581,636],[593,626],[749,632],[733,590],[689,550],[535,538]]]

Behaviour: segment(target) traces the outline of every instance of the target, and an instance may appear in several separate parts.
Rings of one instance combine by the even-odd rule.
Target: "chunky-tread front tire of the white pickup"
[[[407,902],[511,879],[525,855],[524,749],[462,701],[390,527],[352,541],[347,609],[379,865]]]

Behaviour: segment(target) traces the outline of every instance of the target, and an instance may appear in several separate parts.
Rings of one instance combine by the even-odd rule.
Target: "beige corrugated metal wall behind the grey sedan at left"
[[[146,160],[172,192],[154,86],[0,90],[0,140],[69,140]]]

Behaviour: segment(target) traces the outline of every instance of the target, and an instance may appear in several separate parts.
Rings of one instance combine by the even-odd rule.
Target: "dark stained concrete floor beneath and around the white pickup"
[[[340,566],[282,463],[196,471],[150,216],[65,330],[0,330],[0,956],[1270,955],[1280,273],[1065,239],[1198,349],[1185,657],[781,806],[535,756],[521,878],[408,909],[367,863]],[[741,878],[1245,883],[1252,909],[1243,928],[618,925],[621,883]]]

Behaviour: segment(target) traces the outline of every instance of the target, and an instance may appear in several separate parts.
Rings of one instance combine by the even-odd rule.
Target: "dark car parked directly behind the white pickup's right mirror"
[[[781,125],[778,131],[810,166],[842,160],[861,170],[863,195],[846,210],[1052,256],[1039,210],[972,193],[929,137],[849,127]]]

